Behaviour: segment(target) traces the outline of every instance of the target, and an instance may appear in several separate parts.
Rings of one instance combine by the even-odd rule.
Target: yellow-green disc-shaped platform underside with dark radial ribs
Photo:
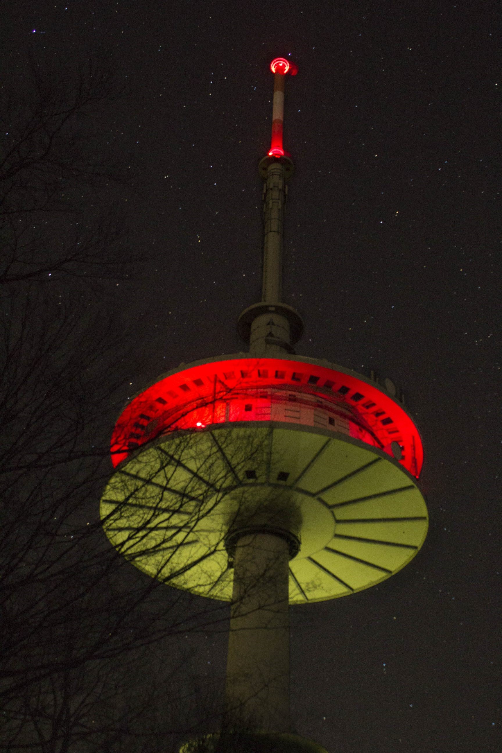
[[[427,534],[415,479],[388,454],[345,434],[273,422],[180,431],[141,447],[109,481],[101,515],[111,543],[143,572],[229,601],[224,536],[237,518],[297,526],[291,603],[385,580]]]

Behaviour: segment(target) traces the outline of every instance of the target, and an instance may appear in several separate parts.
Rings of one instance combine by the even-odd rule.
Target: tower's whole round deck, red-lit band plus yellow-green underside
[[[288,541],[291,603],[373,586],[427,533],[415,423],[378,383],[327,361],[181,364],[129,401],[111,445],[108,537],[148,575],[201,596],[231,599],[247,530]]]

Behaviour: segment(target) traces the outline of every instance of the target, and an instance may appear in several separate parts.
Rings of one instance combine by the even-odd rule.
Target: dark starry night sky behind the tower
[[[284,300],[306,323],[297,352],[403,389],[424,440],[431,528],[379,587],[293,609],[294,719],[329,753],[498,750],[491,4],[17,0],[3,16],[9,74],[28,56],[44,66],[93,44],[131,83],[103,115],[102,137],[137,175],[132,249],[157,252],[111,292],[126,320],[145,318],[148,368],[134,390],[180,362],[246,347],[236,317],[260,294],[268,65],[297,63],[284,127],[296,166]],[[208,654],[223,672],[216,644]]]

